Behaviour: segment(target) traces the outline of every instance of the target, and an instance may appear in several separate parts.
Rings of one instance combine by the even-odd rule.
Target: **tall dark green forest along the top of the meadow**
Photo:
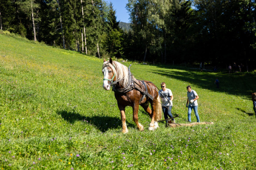
[[[256,68],[255,0],[0,0],[0,29],[97,57]],[[122,23],[124,24],[124,23]]]

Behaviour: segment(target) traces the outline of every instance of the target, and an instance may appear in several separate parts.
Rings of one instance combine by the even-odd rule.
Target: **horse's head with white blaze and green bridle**
[[[116,80],[116,70],[113,65],[113,60],[110,58],[109,61],[104,59],[104,63],[102,66],[102,73],[103,73],[103,88],[105,90],[110,90],[110,86],[113,81]]]

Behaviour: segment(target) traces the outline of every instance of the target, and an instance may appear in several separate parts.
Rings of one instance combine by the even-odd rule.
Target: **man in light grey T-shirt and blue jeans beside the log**
[[[188,107],[188,121],[191,122],[191,111],[193,108],[197,122],[200,122],[199,115],[198,115],[198,103],[197,103],[197,99],[199,99],[199,96],[194,90],[191,89],[190,85],[187,86],[187,91],[188,91],[187,92],[188,99],[187,99],[186,107]]]

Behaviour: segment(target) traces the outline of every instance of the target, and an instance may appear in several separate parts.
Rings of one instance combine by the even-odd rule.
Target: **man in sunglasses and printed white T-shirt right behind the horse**
[[[161,90],[158,91],[158,95],[162,101],[162,109],[164,119],[168,119],[168,116],[172,118],[172,91],[169,88],[166,88],[165,82],[161,83]],[[175,119],[172,119],[172,122],[175,123]],[[168,127],[168,120],[166,120],[166,127]]]

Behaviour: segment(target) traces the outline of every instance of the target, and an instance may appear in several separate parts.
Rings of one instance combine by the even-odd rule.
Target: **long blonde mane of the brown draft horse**
[[[113,67],[113,65],[115,66],[115,68]],[[126,87],[129,83],[128,67],[122,65],[120,62],[117,61],[113,61],[113,65],[109,61],[104,62],[102,65],[102,69],[109,66],[113,70],[114,74],[116,74],[115,82],[119,82],[121,86]],[[133,76],[132,78],[135,81],[135,78]]]

